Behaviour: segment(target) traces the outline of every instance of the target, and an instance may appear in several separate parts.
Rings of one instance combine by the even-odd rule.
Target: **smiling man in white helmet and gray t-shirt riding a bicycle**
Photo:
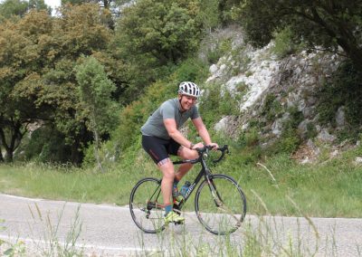
[[[195,148],[203,148],[204,143],[218,148],[218,145],[211,141],[195,106],[199,96],[200,89],[194,82],[181,82],[178,86],[177,98],[162,103],[141,128],[142,147],[163,173],[161,191],[166,210],[165,224],[185,221],[184,217],[173,211],[170,199],[172,195],[177,201],[181,200],[182,195],[178,193],[177,183],[193,166],[188,163],[180,165],[175,173],[175,167],[169,155],[193,159],[198,157]],[[187,119],[192,120],[204,143],[194,144],[179,131]]]

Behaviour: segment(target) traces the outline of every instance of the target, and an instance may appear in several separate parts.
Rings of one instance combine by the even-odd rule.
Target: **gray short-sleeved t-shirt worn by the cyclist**
[[[142,126],[141,132],[144,136],[169,139],[164,119],[175,119],[176,128],[184,125],[188,118],[196,119],[199,117],[198,109],[193,106],[184,112],[181,112],[181,106],[178,99],[170,99],[161,104],[161,106],[149,116],[148,121]]]

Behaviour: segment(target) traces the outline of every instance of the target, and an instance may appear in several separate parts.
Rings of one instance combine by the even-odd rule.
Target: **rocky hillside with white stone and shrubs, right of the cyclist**
[[[300,51],[281,58],[275,42],[255,49],[240,31],[232,27],[214,34],[214,41],[229,41],[232,47],[210,66],[205,97],[207,87],[217,84],[221,94],[227,90],[237,100],[238,110],[224,115],[216,131],[235,140],[253,131],[262,148],[279,142],[282,151],[303,163],[316,160],[322,146],[335,156],[359,145],[359,111],[352,108],[359,105],[360,90],[343,57]]]

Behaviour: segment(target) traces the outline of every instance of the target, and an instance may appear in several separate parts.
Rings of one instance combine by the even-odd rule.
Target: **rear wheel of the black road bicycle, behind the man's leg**
[[[161,180],[153,177],[139,180],[130,193],[130,214],[138,228],[145,233],[158,233],[165,229],[160,193]]]

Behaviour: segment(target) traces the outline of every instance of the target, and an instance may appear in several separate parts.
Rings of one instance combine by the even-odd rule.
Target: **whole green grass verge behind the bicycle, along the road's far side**
[[[287,155],[264,159],[262,165],[243,164],[232,151],[214,173],[233,176],[247,197],[248,214],[266,214],[260,197],[270,214],[299,215],[299,211],[286,200],[291,197],[303,213],[319,217],[361,217],[362,166],[354,158],[362,154],[361,148],[351,149],[333,159],[300,165]],[[128,205],[129,193],[136,182],[146,176],[159,177],[154,164],[144,154],[127,159],[119,167],[110,167],[105,174],[91,169],[56,167],[25,163],[0,165],[0,192],[76,202]],[[190,172],[185,180],[196,175]],[[276,188],[276,184],[278,188]],[[256,196],[258,195],[258,196]],[[194,209],[193,198],[186,203]]]

